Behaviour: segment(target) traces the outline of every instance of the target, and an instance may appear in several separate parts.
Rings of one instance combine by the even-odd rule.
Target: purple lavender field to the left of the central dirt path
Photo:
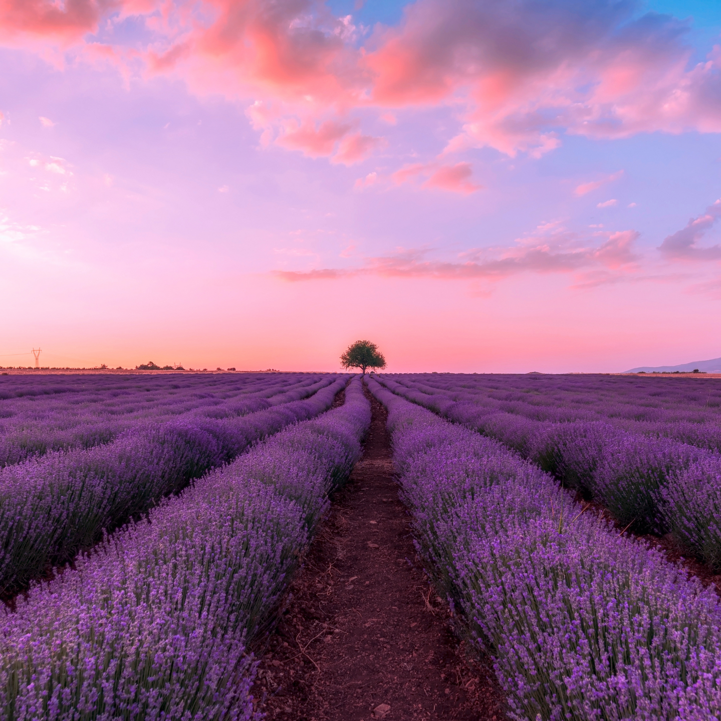
[[[43,443],[0,475],[1,585],[30,582],[3,611],[1,717],[255,717],[245,647],[361,453],[360,380],[3,380],[5,435],[37,417]]]

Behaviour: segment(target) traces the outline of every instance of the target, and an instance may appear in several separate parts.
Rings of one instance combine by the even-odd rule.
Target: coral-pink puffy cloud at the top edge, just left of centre
[[[349,16],[335,17],[315,0],[204,5],[211,12],[195,12],[190,4],[170,10],[158,31],[164,50],[147,52],[152,71],[179,74],[200,94],[254,92],[315,117],[319,110],[358,103],[367,73]]]

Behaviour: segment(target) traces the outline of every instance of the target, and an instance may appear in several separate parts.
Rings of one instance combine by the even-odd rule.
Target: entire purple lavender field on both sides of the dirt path
[[[721,719],[715,585],[637,538],[721,570],[721,382],[436,373],[0,379],[0,718],[260,719],[364,384],[508,717]]]

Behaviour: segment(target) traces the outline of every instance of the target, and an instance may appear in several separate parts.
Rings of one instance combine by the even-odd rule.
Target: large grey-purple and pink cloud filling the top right
[[[491,146],[510,156],[557,146],[554,127],[593,138],[719,131],[721,50],[689,70],[678,22],[632,19],[630,10],[419,1],[401,27],[376,38],[367,61],[376,72],[373,99],[463,99],[465,124],[448,148]]]

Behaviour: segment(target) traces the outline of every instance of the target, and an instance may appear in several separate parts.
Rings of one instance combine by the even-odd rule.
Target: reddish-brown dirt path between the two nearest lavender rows
[[[309,549],[263,646],[254,695],[270,720],[505,719],[490,668],[451,632],[413,547],[375,399],[363,459]]]

